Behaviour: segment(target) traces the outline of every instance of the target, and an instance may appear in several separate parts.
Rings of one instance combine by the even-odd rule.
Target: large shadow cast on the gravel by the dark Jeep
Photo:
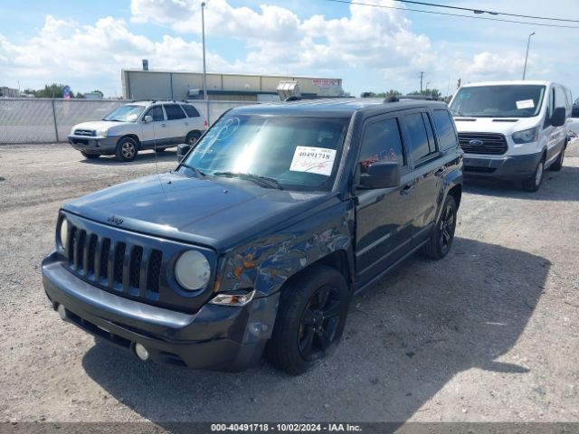
[[[432,397],[463,371],[502,373],[505,382],[528,373],[508,352],[533,315],[550,265],[467,239],[456,239],[441,261],[415,256],[354,298],[337,351],[299,377],[265,362],[245,373],[157,366],[109,344],[91,347],[82,364],[113,397],[166,429],[173,421],[402,423],[426,402],[436,418],[441,403]]]

